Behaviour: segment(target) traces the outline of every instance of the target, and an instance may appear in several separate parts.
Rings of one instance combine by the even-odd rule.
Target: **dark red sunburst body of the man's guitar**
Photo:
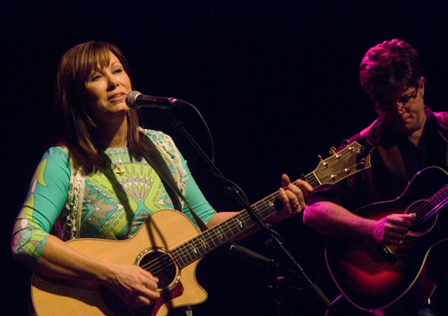
[[[330,241],[325,249],[327,266],[350,303],[366,311],[408,316],[426,303],[440,278],[441,261],[448,258],[446,229],[439,229],[446,224],[445,210],[431,212],[436,204],[433,197],[444,191],[446,184],[445,171],[429,167],[420,171],[396,200],[358,209],[359,216],[375,220],[394,213],[418,214],[400,246],[385,248],[366,240]],[[444,194],[446,200],[448,194]],[[420,216],[426,220],[418,221]]]

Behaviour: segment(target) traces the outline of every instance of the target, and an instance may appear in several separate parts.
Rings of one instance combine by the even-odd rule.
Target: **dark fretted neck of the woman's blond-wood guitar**
[[[305,179],[313,188],[320,185],[313,173],[305,175]],[[282,207],[280,194],[279,192],[274,192],[262,201],[256,202],[251,207],[258,218],[262,220],[269,218],[277,209]],[[220,245],[243,234],[254,225],[254,220],[249,212],[243,209],[237,215],[220,223],[220,225],[214,226],[201,235],[197,235],[193,239],[177,246],[177,248],[171,251],[171,254],[177,261],[178,266],[184,268],[195,260],[199,260],[208,252],[218,248]]]

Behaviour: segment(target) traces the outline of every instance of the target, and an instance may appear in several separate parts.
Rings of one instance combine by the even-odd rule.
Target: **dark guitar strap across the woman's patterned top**
[[[180,192],[173,175],[168,169],[167,163],[162,158],[162,155],[157,149],[156,145],[150,140],[150,138],[143,132],[140,132],[140,140],[143,141],[148,148],[148,151],[145,152],[144,158],[148,163],[156,170],[157,174],[160,176],[162,183],[165,185],[165,188],[168,192],[171,201],[173,201],[174,208],[178,211],[182,212],[182,205],[179,201],[179,198],[185,202],[185,205],[188,207],[194,220],[196,221],[199,228],[201,228],[202,232],[207,230],[207,226],[202,221],[201,218],[194,212],[194,209],[188,204],[185,200],[184,195]]]

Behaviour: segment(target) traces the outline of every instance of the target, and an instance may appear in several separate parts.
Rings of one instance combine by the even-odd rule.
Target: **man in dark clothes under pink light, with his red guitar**
[[[444,279],[443,271],[438,267],[432,269],[436,264],[430,259],[435,255],[429,253],[444,238],[433,240],[423,252],[420,250],[424,246],[414,249],[412,255],[419,261],[418,268],[408,263],[411,260],[404,260],[401,253],[405,246],[416,248],[413,243],[420,236],[429,235],[426,234],[429,231],[433,234],[444,224],[441,212],[438,218],[432,217],[432,224],[426,228],[420,230],[416,226],[420,209],[431,204],[433,198],[427,202],[426,199],[440,189],[418,196],[423,188],[439,176],[442,183],[448,183],[444,172],[448,169],[448,113],[434,113],[425,106],[425,78],[418,52],[403,40],[392,39],[371,47],[362,59],[359,76],[364,90],[375,102],[379,117],[350,141],[374,146],[372,167],[363,176],[316,190],[304,212],[307,226],[332,237],[333,242],[338,238],[334,243],[340,249],[334,251],[334,247],[327,247],[326,259],[342,296],[329,313],[444,315],[446,299],[436,300],[440,295],[437,292],[444,287],[440,283]],[[418,174],[427,167],[429,171]],[[427,181],[421,181],[423,176]],[[413,187],[417,182],[422,185]],[[402,201],[409,195],[409,202],[403,205]],[[416,196],[418,200],[413,201]],[[375,204],[379,201],[390,203]],[[371,203],[375,212],[355,211]],[[431,217],[436,210],[433,208],[426,217]],[[347,247],[341,246],[347,242]],[[436,257],[441,259],[439,253],[444,255],[444,251],[437,252]],[[412,287],[420,285],[419,278],[425,278],[430,285],[418,287],[415,295]],[[392,283],[391,288],[388,281]],[[440,286],[435,289],[435,284]],[[396,297],[384,298],[393,291]],[[411,308],[412,304],[416,306]]]

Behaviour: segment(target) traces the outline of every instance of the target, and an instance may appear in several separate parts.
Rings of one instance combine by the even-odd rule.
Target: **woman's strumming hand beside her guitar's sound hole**
[[[134,266],[112,266],[112,276],[108,278],[107,286],[122,301],[132,309],[150,305],[159,298],[157,283],[159,279],[150,272]]]

